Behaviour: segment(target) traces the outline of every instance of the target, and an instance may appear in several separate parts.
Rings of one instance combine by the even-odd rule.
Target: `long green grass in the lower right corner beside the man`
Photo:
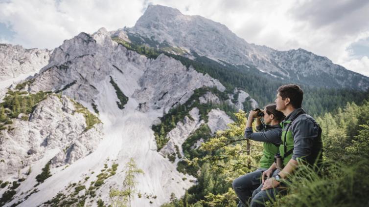
[[[299,167],[286,182],[288,194],[268,207],[353,207],[368,205],[369,159],[347,165],[327,162],[320,171]],[[304,176],[299,176],[303,174]]]

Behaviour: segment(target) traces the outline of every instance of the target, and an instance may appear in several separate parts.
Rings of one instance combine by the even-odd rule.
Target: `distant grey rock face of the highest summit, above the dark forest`
[[[298,83],[366,90],[369,78],[346,70],[325,57],[303,49],[277,51],[250,44],[225,25],[200,16],[183,15],[179,10],[149,5],[128,33],[150,40],[150,45],[171,45],[236,65],[254,65],[260,71]],[[154,43],[153,43],[154,42]],[[214,44],[214,42],[217,42]],[[320,78],[321,77],[321,78]]]

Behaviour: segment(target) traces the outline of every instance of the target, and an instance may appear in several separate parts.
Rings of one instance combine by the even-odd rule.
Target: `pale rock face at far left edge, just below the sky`
[[[0,44],[0,81],[38,72],[48,63],[50,54],[51,51],[46,49],[24,49],[20,45]]]

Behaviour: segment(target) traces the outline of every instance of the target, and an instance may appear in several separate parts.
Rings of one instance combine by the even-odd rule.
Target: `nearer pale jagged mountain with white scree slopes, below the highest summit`
[[[174,105],[184,104],[193,97],[195,89],[203,87],[214,87],[219,93],[225,90],[219,81],[192,67],[187,68],[171,57],[161,54],[150,59],[128,50],[113,41],[104,28],[93,35],[81,33],[64,41],[54,49],[49,63],[40,73],[15,87],[20,91],[18,95],[11,97],[11,93],[4,98],[11,103],[3,103],[7,109],[5,113],[10,117],[11,111],[17,111],[16,104],[14,106],[16,96],[54,92],[41,99],[29,113],[20,113],[11,119],[10,124],[8,121],[2,123],[0,139],[6,142],[1,143],[0,150],[4,158],[0,163],[1,180],[17,183],[18,177],[27,178],[20,183],[13,201],[7,205],[21,202],[21,206],[37,206],[51,202],[54,196],[61,194],[65,195],[65,202],[71,202],[74,188],[67,186],[73,183],[93,189],[85,190],[85,197],[77,202],[86,199],[93,205],[99,199],[109,202],[109,189],[122,185],[124,166],[130,158],[144,172],[138,177],[138,189],[149,196],[136,198],[134,206],[145,206],[149,202],[152,206],[160,206],[168,201],[171,193],[180,197],[196,179],[178,172],[176,164],[157,151],[151,126],[160,123],[158,117]],[[60,101],[57,98],[60,95],[55,93],[63,94]],[[69,99],[75,100],[76,105],[83,104],[85,110],[89,109],[89,113],[97,116],[102,128],[98,122],[88,128],[92,115],[69,106]],[[201,100],[207,103],[206,96]],[[23,103],[23,99],[19,102]],[[202,124],[216,123],[213,119],[218,119],[220,114],[227,123],[230,122],[224,112],[211,112],[218,116],[209,113],[208,120],[202,121],[204,118],[196,115],[198,109],[192,107],[192,111],[184,120],[198,116]],[[196,130],[196,127],[188,128],[185,121],[176,125]],[[225,127],[225,124],[212,124],[212,130],[221,129],[219,127]],[[52,176],[38,185],[34,178],[47,163],[52,168]],[[119,165],[116,174],[101,181],[102,175],[98,172],[103,171],[104,165],[116,164]],[[32,173],[27,173],[29,168]],[[104,185],[92,185],[99,179]],[[5,188],[3,194],[8,192]],[[30,193],[23,194],[22,191]],[[99,196],[88,197],[92,191]]]

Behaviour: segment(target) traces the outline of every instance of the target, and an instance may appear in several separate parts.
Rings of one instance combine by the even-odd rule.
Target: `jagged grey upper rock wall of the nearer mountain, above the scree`
[[[92,36],[81,33],[56,48],[30,91],[60,90],[70,85],[63,94],[91,103],[98,94],[97,86],[109,76],[117,81],[124,94],[144,104],[144,110],[149,107],[167,111],[173,104],[183,104],[194,89],[203,86],[225,90],[208,74],[187,69],[173,58],[160,55],[148,59],[127,50],[112,41],[102,28]]]

